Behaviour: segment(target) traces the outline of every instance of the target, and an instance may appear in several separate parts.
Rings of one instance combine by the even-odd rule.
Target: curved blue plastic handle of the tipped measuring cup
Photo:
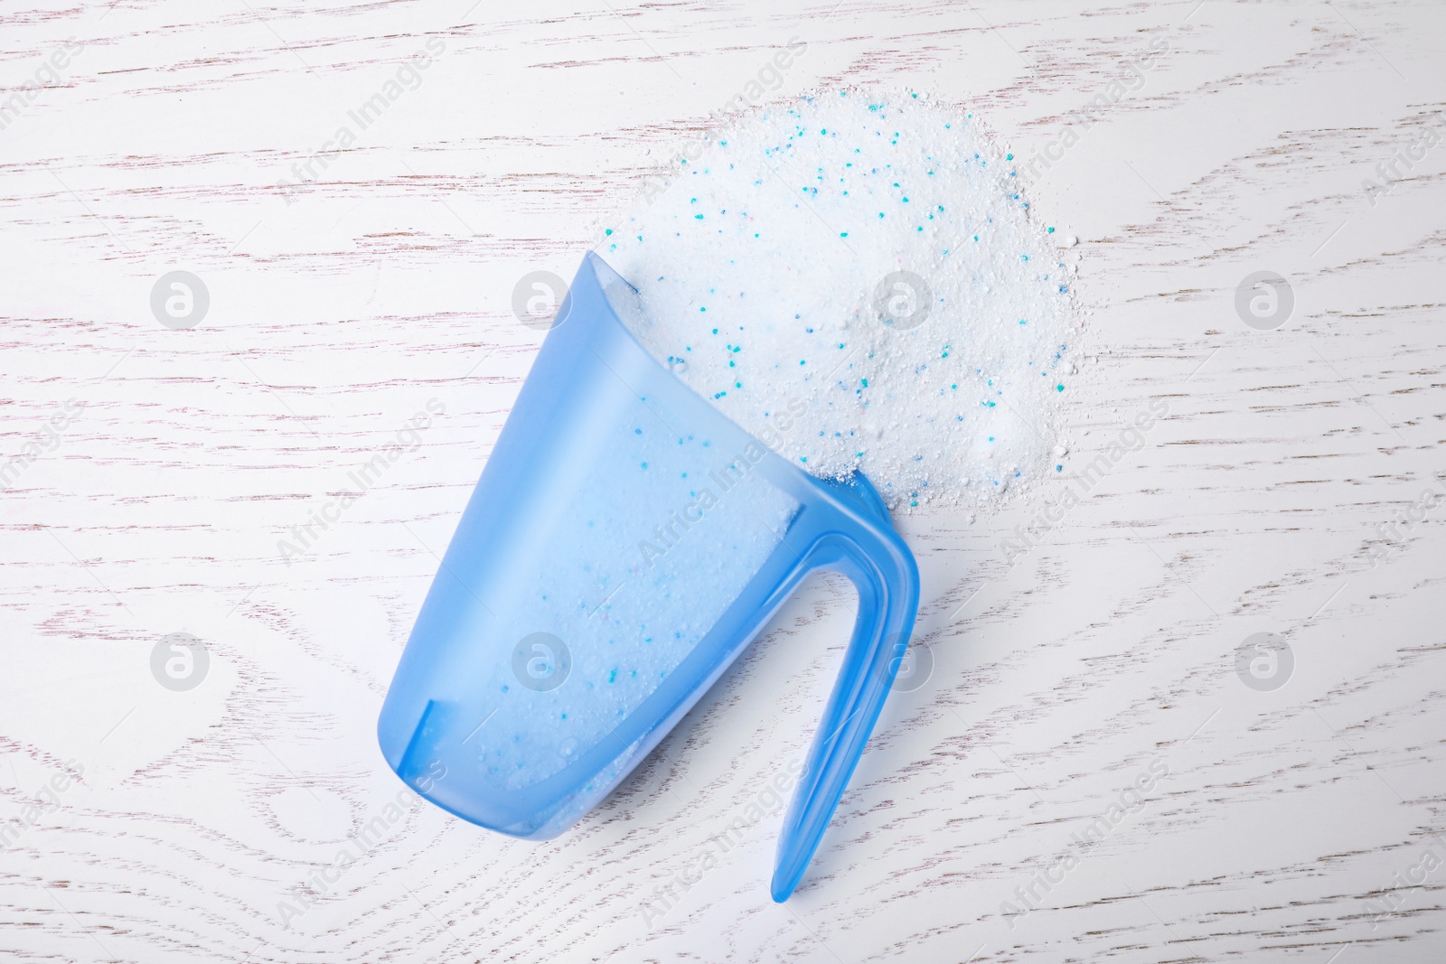
[[[918,613],[918,568],[892,528],[846,517],[814,545],[807,562],[811,569],[849,577],[859,593],[859,614],[778,835],[771,885],[778,903],[792,895],[818,848],[894,685]]]

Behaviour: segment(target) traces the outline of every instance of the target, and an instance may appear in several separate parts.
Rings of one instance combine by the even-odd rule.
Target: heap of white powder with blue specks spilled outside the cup
[[[694,158],[599,247],[658,360],[794,464],[862,470],[891,507],[988,506],[1056,471],[1070,270],[972,114],[831,91]]]

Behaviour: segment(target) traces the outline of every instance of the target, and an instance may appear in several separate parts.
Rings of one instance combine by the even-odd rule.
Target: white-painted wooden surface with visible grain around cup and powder
[[[1446,145],[1391,182],[1377,165],[1446,124],[1443,27],[1420,0],[0,10],[0,951],[1440,961],[1446,503],[1413,506],[1446,493]],[[645,915],[805,752],[846,584],[807,584],[545,844],[388,811],[373,728],[539,344],[513,285],[571,276],[794,36],[777,95],[930,91],[1025,163],[1096,104],[1031,185],[1080,238],[1074,447],[998,516],[899,519],[933,673],[891,698],[795,899],[768,898],[774,811]],[[171,270],[210,292],[192,330],[150,314]],[[1236,315],[1258,270],[1294,293],[1274,331]],[[434,399],[421,445],[288,565],[278,542]],[[1009,551],[1152,402],[1144,442]],[[150,671],[175,632],[210,652],[187,692]],[[1294,655],[1270,692],[1235,672],[1258,632]]]

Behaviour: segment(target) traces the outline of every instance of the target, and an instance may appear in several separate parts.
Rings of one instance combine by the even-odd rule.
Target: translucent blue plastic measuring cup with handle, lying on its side
[[[859,474],[816,478],[720,415],[619,319],[587,254],[457,525],[377,724],[438,806],[545,840],[648,756],[798,582],[843,572],[853,637],[784,817],[794,892],[894,682],[918,571]]]

